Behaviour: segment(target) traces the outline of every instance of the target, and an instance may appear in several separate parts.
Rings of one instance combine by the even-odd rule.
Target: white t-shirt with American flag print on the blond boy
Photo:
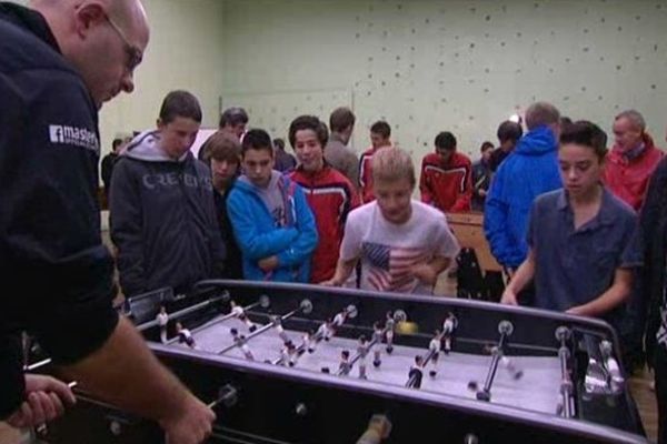
[[[376,201],[348,215],[340,258],[361,258],[360,289],[432,294],[432,286],[416,279],[411,266],[458,254],[445,214],[415,200],[411,205],[412,214],[402,224],[387,221]]]

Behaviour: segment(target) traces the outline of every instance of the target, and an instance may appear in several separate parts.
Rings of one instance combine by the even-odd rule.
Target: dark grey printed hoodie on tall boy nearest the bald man
[[[162,286],[187,292],[221,275],[225,244],[210,171],[189,151],[169,158],[159,131],[139,134],[119,157],[110,225],[126,296]]]

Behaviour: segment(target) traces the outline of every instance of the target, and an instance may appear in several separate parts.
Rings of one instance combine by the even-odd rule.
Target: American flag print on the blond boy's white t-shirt
[[[421,249],[407,249],[364,242],[364,255],[370,264],[368,282],[379,291],[412,292],[419,284],[410,269],[422,262]]]

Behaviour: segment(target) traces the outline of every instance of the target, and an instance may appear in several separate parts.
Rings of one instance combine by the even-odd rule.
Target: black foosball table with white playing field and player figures
[[[133,297],[128,315],[216,410],[211,443],[646,442],[618,340],[597,320],[237,281]],[[42,441],[163,441],[151,422],[74,391]]]

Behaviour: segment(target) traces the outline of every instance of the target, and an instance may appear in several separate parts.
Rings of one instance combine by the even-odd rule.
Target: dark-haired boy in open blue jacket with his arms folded
[[[317,226],[303,191],[273,171],[271,138],[263,130],[243,137],[245,174],[227,199],[233,234],[243,256],[243,278],[309,282]]]

